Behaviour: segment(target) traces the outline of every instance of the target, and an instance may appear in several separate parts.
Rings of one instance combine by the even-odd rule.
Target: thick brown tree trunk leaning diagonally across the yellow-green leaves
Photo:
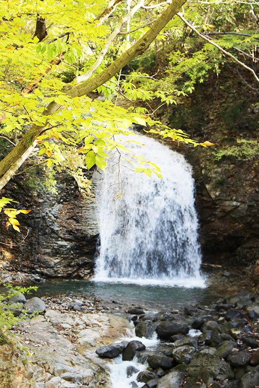
[[[132,59],[134,59],[138,55],[141,55],[145,50],[149,48],[150,44],[153,42],[158,33],[167,25],[167,23],[173,18],[173,16],[176,15],[176,13],[181,9],[185,2],[186,0],[173,0],[173,2],[150,27],[149,31],[146,32],[142,36],[142,38],[140,38],[138,42],[136,42],[130,49],[125,51],[121,55],[121,57],[117,58],[111,65],[109,65],[102,73],[97,74],[93,78],[81,82],[78,85],[66,85],[61,92],[67,94],[70,97],[82,97],[92,92],[99,86],[103,85],[104,82],[110,80],[115,74],[117,74],[122,69],[122,67],[127,65]],[[50,115],[57,111],[60,107],[61,105],[58,105],[55,102],[51,102],[46,108],[44,115]],[[23,161],[25,160],[23,158],[24,153],[26,153],[27,155],[26,158],[29,156],[27,153],[27,149],[32,146],[35,141],[35,137],[37,137],[42,131],[44,131],[45,126],[33,125],[31,129],[28,130],[28,132],[23,136],[17,146],[15,146],[15,148],[0,162],[0,176],[5,174],[10,168],[12,168],[12,173],[5,174],[5,177],[8,176],[8,180],[10,180],[12,176],[14,176],[18,168],[13,168],[14,164],[20,165],[18,162],[20,158],[22,158]],[[5,179],[4,184],[6,183],[7,181]],[[1,186],[2,185],[0,179],[0,188]]]

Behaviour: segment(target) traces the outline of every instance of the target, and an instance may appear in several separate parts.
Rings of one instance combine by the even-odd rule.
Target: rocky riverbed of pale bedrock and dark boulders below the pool
[[[34,310],[42,313],[14,328],[11,342],[0,346],[1,388],[112,388],[110,365],[120,357],[144,364],[144,371],[128,366],[125,387],[259,385],[258,295],[242,292],[212,306],[155,312],[96,298],[18,298],[17,309],[28,318]],[[154,336],[156,347],[145,348],[145,338]]]

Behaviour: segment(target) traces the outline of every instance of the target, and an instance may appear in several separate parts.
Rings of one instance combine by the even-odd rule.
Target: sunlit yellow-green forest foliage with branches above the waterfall
[[[25,161],[21,170],[43,163],[82,182],[84,169],[105,168],[110,149],[125,149],[115,135],[133,124],[211,145],[155,112],[226,62],[257,89],[258,8],[254,0],[0,1],[0,189]],[[141,163],[137,171],[159,175]]]

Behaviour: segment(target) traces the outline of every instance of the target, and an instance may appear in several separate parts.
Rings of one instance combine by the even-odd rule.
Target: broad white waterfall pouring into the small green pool
[[[145,143],[127,148],[158,164],[163,178],[136,173],[113,152],[96,193],[101,241],[95,279],[200,285],[191,167],[152,138],[129,140]]]

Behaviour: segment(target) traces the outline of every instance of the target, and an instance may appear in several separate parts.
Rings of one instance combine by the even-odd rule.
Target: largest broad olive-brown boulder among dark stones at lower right
[[[225,380],[234,377],[229,364],[217,356],[205,353],[194,355],[189,364],[188,376],[197,379],[204,379],[207,375],[218,380]]]

